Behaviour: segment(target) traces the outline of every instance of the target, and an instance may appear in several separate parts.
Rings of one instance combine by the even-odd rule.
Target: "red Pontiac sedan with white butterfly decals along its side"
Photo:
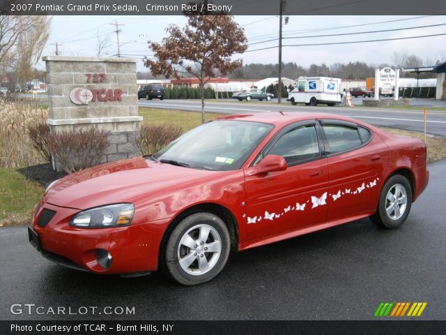
[[[222,117],[151,157],[47,188],[29,239],[61,265],[209,281],[243,251],[370,217],[397,228],[428,183],[426,146],[347,117]],[[279,261],[279,260],[278,260]]]

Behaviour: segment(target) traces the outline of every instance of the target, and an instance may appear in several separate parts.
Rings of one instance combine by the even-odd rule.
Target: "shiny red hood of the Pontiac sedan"
[[[216,171],[197,170],[130,158],[82,170],[57,181],[43,200],[59,207],[87,209],[104,204],[134,202],[173,187],[196,184],[215,177]]]

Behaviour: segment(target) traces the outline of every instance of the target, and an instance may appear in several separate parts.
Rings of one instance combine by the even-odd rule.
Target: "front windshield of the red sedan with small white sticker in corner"
[[[237,170],[272,128],[259,122],[211,121],[178,137],[153,158],[187,168]]]

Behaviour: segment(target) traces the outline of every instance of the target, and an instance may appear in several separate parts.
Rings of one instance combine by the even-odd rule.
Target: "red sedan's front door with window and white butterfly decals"
[[[327,215],[328,166],[316,122],[284,128],[255,163],[268,154],[283,156],[288,168],[245,177],[249,240],[316,225]]]

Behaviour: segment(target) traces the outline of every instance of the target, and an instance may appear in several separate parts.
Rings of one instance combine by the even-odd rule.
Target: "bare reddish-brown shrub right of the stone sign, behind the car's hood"
[[[183,128],[178,126],[141,126],[135,144],[141,155],[151,155],[160,151],[181,134],[183,134]]]

